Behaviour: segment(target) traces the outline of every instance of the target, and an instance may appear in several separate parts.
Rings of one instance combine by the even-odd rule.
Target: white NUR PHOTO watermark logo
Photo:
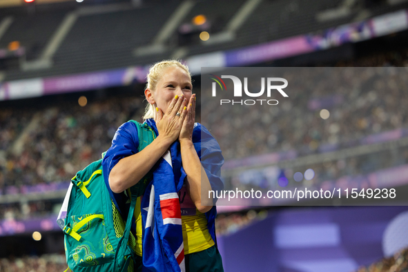
[[[242,81],[238,77],[234,75],[222,75],[218,77],[217,75],[211,75],[211,79],[214,80],[212,85],[213,90],[213,97],[217,96],[217,85],[220,86],[222,91],[226,91],[226,85],[224,80],[222,79],[231,79],[233,81],[234,90],[233,95],[234,97],[242,97]],[[266,81],[266,97],[271,97],[271,93],[273,90],[278,90],[278,92],[283,97],[289,97],[286,93],[282,90],[288,86],[288,81],[282,77],[261,77],[261,90],[258,93],[252,93],[248,90],[248,77],[244,77],[244,93],[248,97],[261,97],[265,93],[265,81]],[[281,85],[275,85],[276,82],[282,82]],[[257,102],[259,101],[259,102]],[[266,101],[266,103],[265,103]],[[264,103],[263,103],[264,102]],[[220,105],[223,104],[240,104],[240,105],[255,105],[255,104],[268,104],[268,105],[278,105],[278,100],[276,99],[241,99],[241,100],[230,100],[230,99],[220,99]]]

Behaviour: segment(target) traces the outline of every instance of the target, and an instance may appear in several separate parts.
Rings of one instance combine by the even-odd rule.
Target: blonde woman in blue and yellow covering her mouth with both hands
[[[157,164],[162,162],[161,158],[168,150],[171,150],[173,161],[177,159],[175,153],[179,154],[182,168],[177,171],[182,172],[182,177],[186,175],[184,186],[178,191],[186,271],[223,271],[215,244],[215,200],[202,199],[201,193],[222,186],[220,167],[224,159],[220,147],[204,126],[194,122],[196,99],[186,66],[174,60],[159,62],[150,68],[147,81],[144,94],[148,106],[144,119],[155,130],[157,137],[138,151],[136,125],[126,122],[120,126],[104,157],[105,182],[112,191],[115,204],[122,206],[120,209],[124,211],[127,197],[123,192],[129,195],[131,192],[128,189],[153,171],[153,166],[159,167]],[[165,184],[173,180],[153,182]],[[142,211],[138,200],[135,208],[135,252],[139,256],[142,255]],[[182,266],[180,269],[183,270]]]

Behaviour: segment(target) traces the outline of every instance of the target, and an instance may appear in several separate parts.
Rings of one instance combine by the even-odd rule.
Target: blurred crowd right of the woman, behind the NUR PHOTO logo
[[[276,91],[271,97],[277,106],[220,106],[210,89],[202,90],[202,123],[212,128],[226,159],[289,150],[309,155],[408,127],[406,68],[281,68],[277,74],[290,82],[284,89],[289,97]],[[249,83],[253,93],[260,90],[261,76],[255,77]],[[230,81],[225,79],[226,89],[232,91]]]

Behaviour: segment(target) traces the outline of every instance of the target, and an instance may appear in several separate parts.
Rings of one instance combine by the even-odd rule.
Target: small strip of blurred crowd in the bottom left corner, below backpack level
[[[0,272],[55,272],[67,268],[65,255],[58,254],[0,259]]]

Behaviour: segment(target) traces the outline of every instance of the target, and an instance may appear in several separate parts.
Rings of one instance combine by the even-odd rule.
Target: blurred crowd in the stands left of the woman
[[[0,110],[0,192],[70,180],[99,159],[117,128],[142,110],[139,97],[104,99],[84,108],[72,101],[26,112]]]

